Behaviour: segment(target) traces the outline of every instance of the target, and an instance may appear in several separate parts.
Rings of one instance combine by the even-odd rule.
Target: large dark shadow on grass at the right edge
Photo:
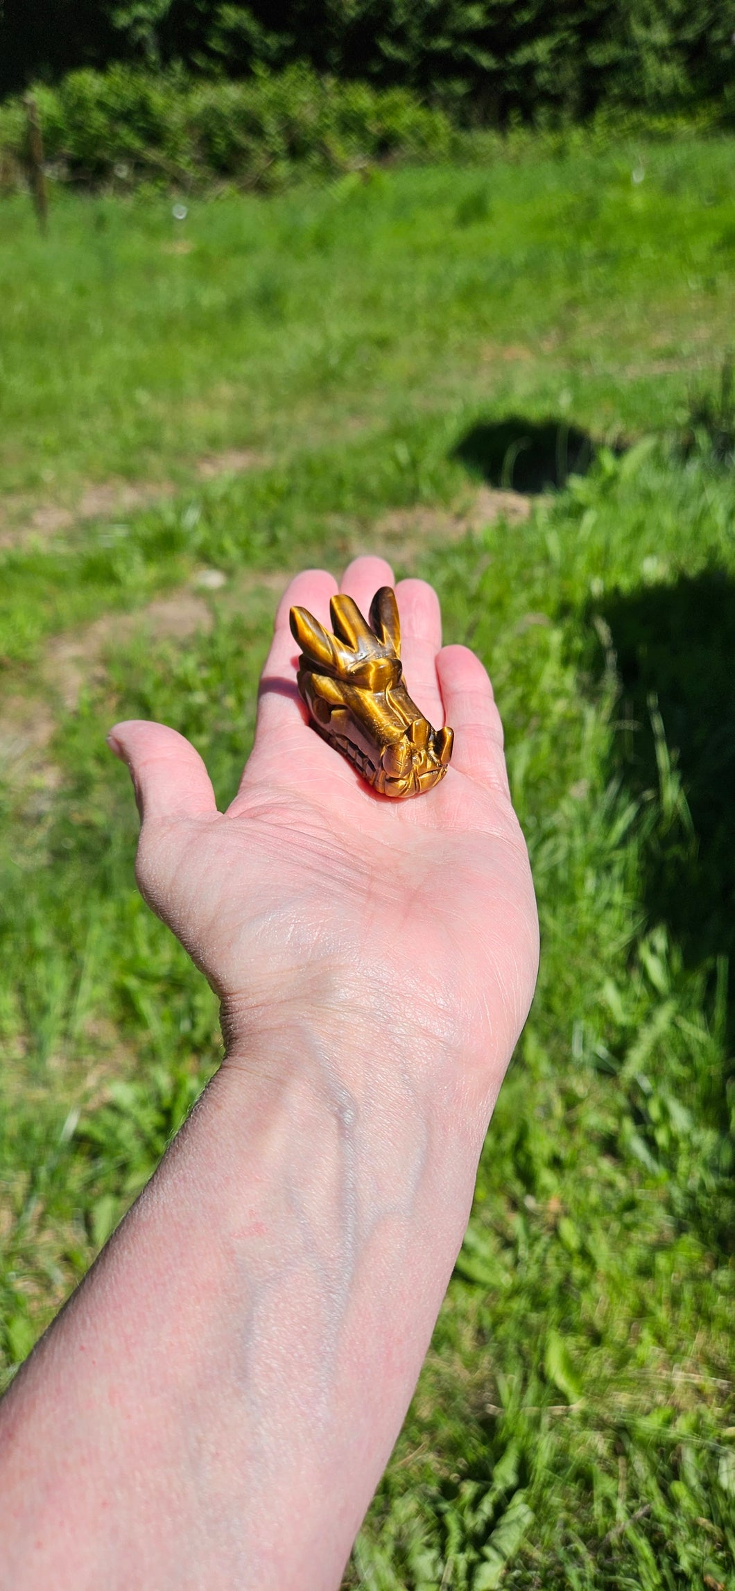
[[[690,966],[730,958],[735,975],[735,581],[713,568],[603,608],[622,684],[617,757],[635,796],[655,789],[652,716],[681,775],[694,843],[673,826],[651,846],[644,905]],[[735,1015],[735,1010],[733,1010]]]

